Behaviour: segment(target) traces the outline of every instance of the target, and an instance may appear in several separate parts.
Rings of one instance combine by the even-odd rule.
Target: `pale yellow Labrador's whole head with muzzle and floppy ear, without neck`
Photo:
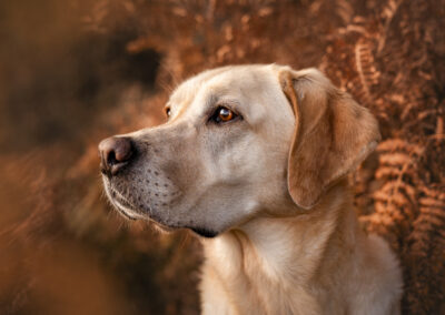
[[[373,115],[314,69],[206,71],[166,113],[160,126],[100,143],[106,192],[128,217],[204,236],[313,207],[379,140]]]

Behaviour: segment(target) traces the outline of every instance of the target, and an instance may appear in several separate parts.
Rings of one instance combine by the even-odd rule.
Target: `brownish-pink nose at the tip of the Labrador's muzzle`
[[[99,143],[100,170],[108,176],[116,175],[135,155],[128,138],[111,136]]]

